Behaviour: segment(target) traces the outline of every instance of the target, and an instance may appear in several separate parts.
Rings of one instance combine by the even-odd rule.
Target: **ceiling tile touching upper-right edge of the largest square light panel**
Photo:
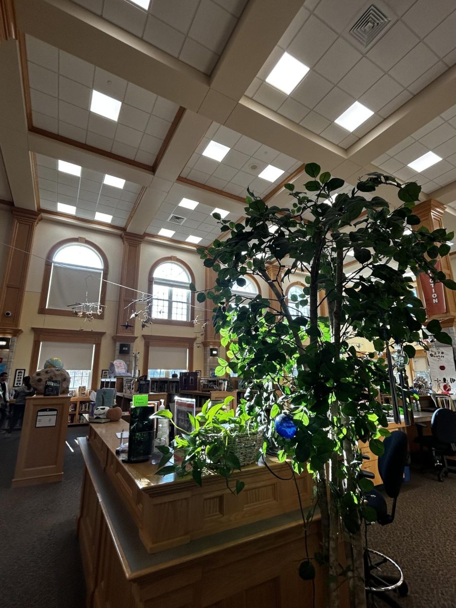
[[[337,35],[316,16],[311,15],[288,47],[289,54],[313,67],[336,40]]]

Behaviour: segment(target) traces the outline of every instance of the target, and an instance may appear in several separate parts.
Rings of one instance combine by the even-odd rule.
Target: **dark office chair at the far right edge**
[[[423,435],[425,427],[426,424],[416,423],[418,437],[413,441],[420,444],[420,451],[426,447],[432,454],[434,466],[440,465],[437,478],[439,482],[443,482],[443,475],[448,477],[449,471],[456,472],[456,469],[449,467],[447,463],[448,456],[456,457],[456,412],[441,407],[435,410],[430,421],[432,435]],[[424,466],[421,471],[424,471]]]

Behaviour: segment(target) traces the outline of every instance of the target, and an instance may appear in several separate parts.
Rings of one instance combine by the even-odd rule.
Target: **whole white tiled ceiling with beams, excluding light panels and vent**
[[[390,21],[367,49],[349,30],[370,0],[151,0],[148,10],[130,0],[13,3],[27,55],[18,40],[0,44],[9,85],[0,96],[0,199],[17,207],[52,215],[60,200],[77,207],[76,221],[96,208],[130,232],[165,227],[172,240],[209,244],[213,208],[240,218],[247,186],[286,206],[280,185],[305,162],[347,187],[379,168],[419,181],[423,199],[456,201],[454,0],[375,0]],[[264,82],[285,50],[310,68],[291,95]],[[92,88],[122,102],[118,122],[89,111]],[[355,100],[375,114],[348,133],[334,119]],[[211,139],[232,148],[222,162],[201,154]],[[443,160],[410,173],[406,165],[427,151]],[[83,167],[78,185],[57,173],[57,159]],[[267,164],[285,171],[274,183],[258,178]],[[105,191],[105,173],[134,189]],[[183,197],[199,202],[194,212],[178,207]],[[171,213],[184,224],[168,225]]]

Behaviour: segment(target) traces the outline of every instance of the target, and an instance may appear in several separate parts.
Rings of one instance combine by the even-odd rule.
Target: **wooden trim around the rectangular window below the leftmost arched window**
[[[102,337],[105,331],[79,331],[79,330],[56,330],[44,327],[32,327],[33,345],[30,355],[30,375],[35,373],[38,366],[38,355],[40,354],[41,342],[69,342],[70,344],[93,344],[94,363],[92,365],[92,389],[98,388],[100,378],[100,353],[102,348]]]

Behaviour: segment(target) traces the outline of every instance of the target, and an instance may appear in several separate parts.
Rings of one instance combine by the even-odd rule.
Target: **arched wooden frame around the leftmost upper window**
[[[85,238],[66,238],[63,241],[58,241],[55,243],[49,250],[46,256],[46,261],[44,263],[44,272],[43,272],[43,283],[41,285],[41,296],[40,296],[40,304],[38,305],[38,313],[39,314],[54,314],[60,317],[74,317],[74,312],[72,310],[63,310],[60,308],[48,308],[47,300],[50,289],[50,278],[52,275],[52,264],[54,263],[54,256],[57,254],[58,250],[63,249],[68,245],[81,245],[87,246],[93,249],[102,259],[103,269],[102,269],[102,286],[100,289],[100,304],[102,305],[101,314],[97,315],[97,319],[105,318],[105,305],[106,305],[106,280],[108,279],[108,258],[105,255],[100,247],[97,244],[92,243],[92,241],[88,241]],[[70,266],[70,264],[68,264]],[[82,267],[81,267],[82,268]]]

